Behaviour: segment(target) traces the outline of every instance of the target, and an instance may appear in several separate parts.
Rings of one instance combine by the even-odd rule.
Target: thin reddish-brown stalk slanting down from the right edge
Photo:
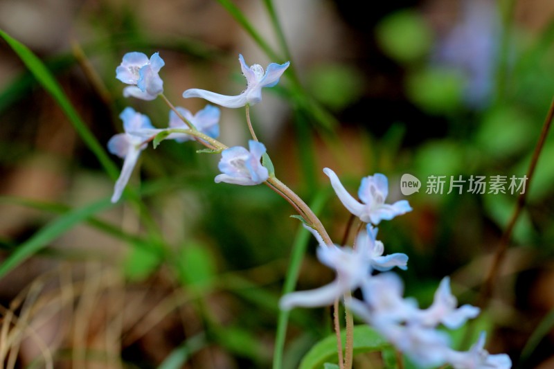
[[[546,118],[542,126],[542,131],[539,136],[539,141],[537,141],[537,145],[535,146],[535,151],[533,152],[533,157],[531,158],[531,162],[527,170],[526,190],[524,192],[521,192],[519,194],[519,197],[517,197],[517,204],[515,206],[514,212],[512,213],[510,222],[508,222],[508,226],[506,226],[506,230],[504,230],[504,233],[502,234],[499,245],[497,247],[497,251],[494,253],[494,259],[492,260],[492,267],[490,268],[489,274],[485,280],[485,283],[483,284],[483,289],[481,289],[481,296],[479,298],[479,303],[478,303],[478,305],[480,306],[485,306],[486,301],[488,301],[490,296],[492,295],[492,290],[494,289],[494,285],[497,282],[501,264],[504,258],[506,257],[506,251],[508,251],[508,242],[510,242],[510,239],[512,237],[512,231],[514,230],[515,224],[517,222],[519,214],[521,213],[521,210],[524,208],[526,204],[527,193],[528,193],[528,189],[530,188],[530,182],[531,182],[531,179],[533,179],[533,174],[535,173],[535,168],[537,167],[537,162],[539,161],[539,156],[542,152],[542,148],[544,147],[544,142],[546,141],[546,136],[548,136],[548,131],[550,130],[553,119],[554,119],[554,98],[551,102],[550,109],[548,109],[548,114],[546,114]]]

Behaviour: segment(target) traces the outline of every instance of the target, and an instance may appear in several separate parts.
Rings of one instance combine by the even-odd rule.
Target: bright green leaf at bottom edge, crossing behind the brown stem
[[[354,354],[393,350],[390,343],[368,325],[354,327]],[[341,332],[342,342],[346,341],[346,332]],[[328,362],[337,361],[337,336],[332,334],[319,341],[305,354],[299,369],[321,369]]]

